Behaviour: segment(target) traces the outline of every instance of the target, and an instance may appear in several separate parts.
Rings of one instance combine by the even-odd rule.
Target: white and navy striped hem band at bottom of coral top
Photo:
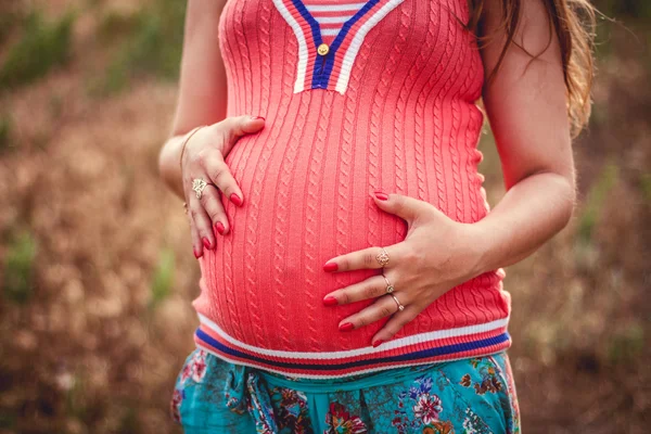
[[[194,342],[200,348],[235,365],[286,376],[334,379],[391,368],[487,356],[511,346],[509,318],[396,339],[373,348],[330,352],[285,352],[248,345],[228,335],[199,314]]]

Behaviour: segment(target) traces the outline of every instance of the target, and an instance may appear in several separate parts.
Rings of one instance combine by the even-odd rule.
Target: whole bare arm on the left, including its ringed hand
[[[158,155],[165,184],[188,204],[195,257],[217,246],[217,233],[229,232],[222,195],[242,206],[244,195],[225,157],[243,135],[260,130],[264,118],[251,114],[226,117],[228,86],[219,50],[219,17],[226,0],[189,0],[183,36],[179,97],[170,138]],[[205,126],[189,133],[195,127]],[[181,148],[186,143],[182,162]],[[194,179],[207,186],[201,197]]]

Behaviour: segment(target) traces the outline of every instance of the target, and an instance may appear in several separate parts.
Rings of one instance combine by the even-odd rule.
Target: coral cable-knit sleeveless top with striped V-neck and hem
[[[510,346],[502,269],[451,289],[376,348],[387,318],[337,330],[374,299],[322,304],[380,273],[326,272],[328,259],[405,240],[406,222],[378,208],[375,190],[457,221],[488,213],[476,150],[484,75],[468,17],[467,0],[227,2],[215,42],[228,116],[266,124],[226,156],[244,205],[222,197],[231,232],[200,259],[200,347],[288,376],[337,378]]]

